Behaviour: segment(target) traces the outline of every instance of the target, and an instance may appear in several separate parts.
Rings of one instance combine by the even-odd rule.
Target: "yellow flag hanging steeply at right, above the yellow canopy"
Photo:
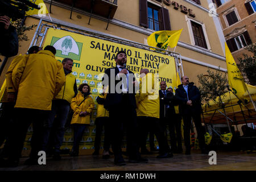
[[[226,67],[228,69],[229,86],[232,88],[233,92],[237,95],[237,97],[242,98],[243,94],[247,90],[245,81],[243,80],[243,76],[240,70],[238,69],[236,62],[234,61],[234,57],[229,51],[229,47],[226,43],[225,43],[225,49],[226,49]]]

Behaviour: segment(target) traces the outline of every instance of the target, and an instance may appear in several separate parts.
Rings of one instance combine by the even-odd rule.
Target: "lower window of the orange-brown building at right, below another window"
[[[247,31],[232,39],[226,40],[226,44],[228,44],[230,52],[237,51],[245,46],[250,45],[251,43],[252,42]]]

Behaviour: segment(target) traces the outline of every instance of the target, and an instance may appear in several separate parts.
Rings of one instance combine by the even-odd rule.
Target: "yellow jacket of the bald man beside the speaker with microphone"
[[[137,116],[159,118],[159,88],[158,78],[147,73],[140,78],[139,93],[136,94]]]

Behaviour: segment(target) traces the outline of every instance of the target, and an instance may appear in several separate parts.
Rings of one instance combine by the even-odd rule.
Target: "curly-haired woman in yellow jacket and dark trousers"
[[[79,155],[79,143],[84,130],[90,124],[90,113],[94,107],[93,98],[90,97],[90,86],[81,84],[78,90],[80,92],[71,101],[71,109],[74,111],[71,121],[74,130],[72,156]]]

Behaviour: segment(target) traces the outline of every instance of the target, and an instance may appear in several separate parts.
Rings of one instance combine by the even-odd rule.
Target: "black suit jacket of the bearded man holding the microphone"
[[[111,75],[110,74],[111,72],[113,72],[114,74]],[[109,92],[106,96],[106,100],[104,103],[105,109],[109,109],[109,107],[116,106],[116,105],[120,104],[122,101],[123,94],[117,93],[115,90],[116,85],[122,80],[122,79],[115,80],[115,77],[117,76],[118,73],[119,73],[119,69],[117,67],[108,68],[108,69],[106,69],[105,75],[102,78],[102,85],[109,86]],[[130,74],[129,78],[132,76],[132,78],[129,79],[129,82],[135,81],[136,78],[134,77],[134,73],[129,71],[129,74]],[[113,84],[113,82],[114,82],[114,84]],[[111,86],[112,84],[114,85],[113,88]],[[121,86],[122,86],[122,84],[121,84]],[[114,90],[112,90],[112,89],[114,89]],[[131,88],[129,88],[129,89],[131,89]],[[127,103],[127,104],[129,104],[134,109],[136,109],[137,106],[136,106],[136,100],[135,100],[135,88],[133,89],[133,93],[128,93],[128,95],[129,95],[129,103]]]

